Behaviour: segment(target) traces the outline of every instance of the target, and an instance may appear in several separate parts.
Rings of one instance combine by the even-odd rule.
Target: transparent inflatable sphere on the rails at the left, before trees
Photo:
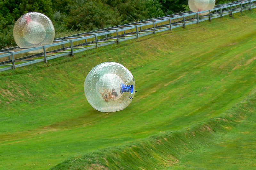
[[[29,12],[22,15],[15,23],[13,36],[20,48],[32,48],[52,44],[55,29],[52,21],[39,12]],[[30,53],[42,53],[43,49]]]

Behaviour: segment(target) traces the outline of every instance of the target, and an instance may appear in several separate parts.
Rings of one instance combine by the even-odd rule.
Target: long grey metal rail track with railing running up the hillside
[[[251,10],[252,8],[256,8],[256,0],[240,0],[216,5],[212,10],[200,12],[182,12],[169,16],[153,18],[130,24],[118,25],[96,31],[84,32],[76,35],[57,38],[54,39],[53,44],[46,46],[29,48],[25,50],[22,50],[19,47],[2,49],[0,50],[0,53],[5,54],[0,55],[0,59],[4,58],[5,61],[0,62],[0,71],[15,69],[17,67],[30,65],[41,61],[47,62],[47,60],[51,60],[61,56],[74,55],[74,53],[79,53],[85,50],[119,43],[121,41],[139,38],[145,35],[155,34],[157,32],[172,30],[178,27],[185,27],[186,25],[190,24],[199,24],[199,22],[206,20],[211,21],[211,19],[213,18],[222,18],[223,16],[232,15],[234,13],[243,12],[245,10]],[[209,14],[205,16],[199,16],[200,13],[204,12],[209,12]],[[65,45],[68,46],[65,47]],[[57,49],[46,51],[47,48],[53,47]],[[43,49],[43,53],[27,55],[27,52],[39,49]],[[14,57],[14,55],[20,54],[25,54],[26,56],[18,58]],[[33,59],[31,60],[31,58]],[[15,62],[17,64],[15,64]]]

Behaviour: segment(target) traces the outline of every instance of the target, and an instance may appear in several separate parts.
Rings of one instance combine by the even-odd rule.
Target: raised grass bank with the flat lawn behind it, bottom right
[[[210,118],[180,131],[160,132],[128,145],[80,154],[51,169],[251,169],[256,163],[255,141],[251,139],[255,138],[255,92],[254,89],[250,96],[222,117]],[[253,123],[246,124],[247,117]],[[248,136],[250,132],[252,134]],[[243,135],[243,142],[247,143],[241,144]],[[221,142],[223,140],[226,142]],[[231,144],[223,148],[226,143]],[[237,151],[233,143],[245,148]],[[252,147],[250,151],[248,146]]]

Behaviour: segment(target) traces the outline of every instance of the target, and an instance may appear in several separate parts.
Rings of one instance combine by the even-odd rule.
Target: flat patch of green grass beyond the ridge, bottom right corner
[[[255,169],[255,128],[253,113],[234,129],[215,134],[206,145],[184,155],[172,169]]]

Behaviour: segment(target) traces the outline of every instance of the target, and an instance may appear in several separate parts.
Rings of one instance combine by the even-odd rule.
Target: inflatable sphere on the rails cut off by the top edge
[[[188,6],[192,12],[211,10],[215,6],[215,0],[188,0]],[[207,14],[209,12],[199,13],[199,15]]]

